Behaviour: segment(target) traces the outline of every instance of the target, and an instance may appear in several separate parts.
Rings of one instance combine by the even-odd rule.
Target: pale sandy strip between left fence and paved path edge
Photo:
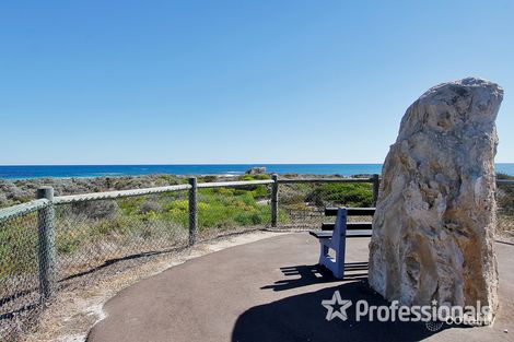
[[[258,231],[198,244],[180,252],[154,258],[129,271],[100,279],[86,287],[65,288],[43,311],[33,329],[20,340],[84,341],[90,329],[106,317],[104,304],[121,290],[187,260],[280,234]]]

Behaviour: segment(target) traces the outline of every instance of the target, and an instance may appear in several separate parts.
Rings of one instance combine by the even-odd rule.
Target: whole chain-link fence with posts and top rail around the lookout
[[[379,180],[378,175],[271,175],[221,182],[191,177],[174,186],[57,197],[52,189],[38,189],[38,199],[0,209],[0,340],[21,326],[10,321],[23,319],[16,312],[40,307],[58,283],[89,274],[109,260],[187,248],[240,226],[319,226],[326,223],[326,208],[374,207]],[[499,179],[498,185],[514,193],[514,180]],[[502,224],[511,228],[512,201],[499,208]]]

